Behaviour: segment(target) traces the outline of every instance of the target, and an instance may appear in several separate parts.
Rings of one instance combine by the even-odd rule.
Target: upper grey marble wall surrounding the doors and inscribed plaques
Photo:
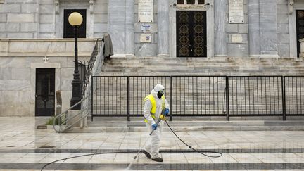
[[[177,1],[154,1],[153,23],[138,22],[138,0],[27,0],[0,4],[0,38],[61,38],[63,9],[87,9],[87,37],[110,33],[120,56],[175,56]],[[208,57],[295,56],[295,16],[287,0],[244,0],[244,23],[229,23],[229,1],[206,0]],[[295,6],[303,4],[295,1]],[[303,9],[298,6],[297,9]],[[179,9],[183,10],[183,8]],[[189,10],[189,9],[186,9]],[[191,10],[191,9],[190,9]],[[225,11],[225,13],[223,13]],[[143,32],[142,25],[151,30]],[[151,42],[140,42],[151,34]],[[238,41],[234,41],[238,37]],[[240,40],[241,39],[241,40]]]

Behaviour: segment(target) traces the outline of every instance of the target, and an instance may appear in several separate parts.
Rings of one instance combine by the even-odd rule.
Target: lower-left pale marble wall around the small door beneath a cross
[[[80,39],[79,60],[89,61],[94,44],[94,39]],[[72,40],[63,39],[0,39],[0,116],[34,116],[36,68],[56,69],[55,91],[61,90],[62,110],[68,109],[74,72],[71,46]]]

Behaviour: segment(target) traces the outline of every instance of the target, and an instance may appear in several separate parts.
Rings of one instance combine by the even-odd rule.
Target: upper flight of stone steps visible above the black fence
[[[101,75],[304,75],[303,58],[110,58]]]

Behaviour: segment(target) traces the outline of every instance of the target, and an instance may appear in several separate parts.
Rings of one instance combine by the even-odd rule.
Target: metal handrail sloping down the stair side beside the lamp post
[[[65,110],[63,113],[57,115],[54,119],[53,119],[53,129],[58,132],[65,132],[66,130],[70,129],[73,125],[75,125],[77,122],[80,122],[81,120],[84,120],[85,118],[87,118],[87,115],[89,115],[89,96],[91,95],[91,76],[94,74],[96,74],[96,72],[98,72],[98,69],[101,69],[101,66],[99,66],[99,64],[103,63],[104,60],[104,56],[103,56],[103,46],[104,44],[101,44],[101,50],[99,49],[99,42],[101,42],[102,39],[97,39],[96,40],[96,44],[94,46],[94,50],[91,54],[91,58],[89,61],[89,65],[88,68],[86,70],[86,74],[85,74],[85,78],[82,82],[82,100],[75,103],[75,105],[71,106],[70,108],[68,108],[68,110]],[[96,58],[99,58],[99,56],[101,56],[101,60],[97,60],[97,64],[96,64]],[[82,104],[82,109],[80,110],[79,113],[77,113],[76,115],[72,116],[71,118],[66,118],[66,114],[68,113],[69,110],[71,110],[72,108],[74,108],[75,106]],[[72,120],[73,118],[79,117],[79,115],[82,115],[80,118],[78,118],[76,121],[69,123],[70,120]],[[56,120],[58,120],[59,118],[65,117],[65,121],[60,123],[59,125],[57,125],[57,127],[59,127],[59,129],[56,129]],[[68,124],[68,125],[67,125]],[[84,124],[85,126],[85,122],[83,122],[82,124]],[[63,127],[63,125],[65,125],[65,127]]]

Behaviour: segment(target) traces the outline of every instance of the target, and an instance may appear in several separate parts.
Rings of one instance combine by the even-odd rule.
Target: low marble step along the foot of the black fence
[[[96,118],[94,118],[96,119]],[[186,131],[303,131],[304,122],[300,121],[168,121],[175,132]],[[165,124],[165,123],[164,123]],[[73,128],[69,132],[146,132],[146,125],[142,120],[137,121],[109,121],[109,120],[88,120],[89,127],[83,129]],[[167,125],[163,132],[170,132]]]

